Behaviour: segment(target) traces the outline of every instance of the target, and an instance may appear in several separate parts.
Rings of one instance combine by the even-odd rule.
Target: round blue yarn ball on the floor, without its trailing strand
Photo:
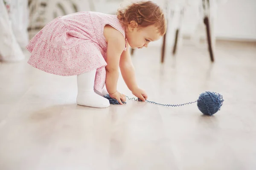
[[[221,109],[223,102],[224,100],[221,94],[206,91],[200,94],[197,106],[203,114],[212,116]]]

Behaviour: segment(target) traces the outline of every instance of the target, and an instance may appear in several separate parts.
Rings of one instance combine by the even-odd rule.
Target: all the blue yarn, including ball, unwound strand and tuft
[[[116,99],[112,99],[108,94],[105,95],[104,97],[109,100],[110,104],[119,105],[119,102]],[[139,98],[135,99],[135,98],[129,98],[128,96],[126,96],[126,97],[128,99],[133,99],[135,101],[142,101]],[[146,102],[153,103],[156,105],[168,106],[168,107],[178,107],[178,106],[189,105],[189,104],[197,102],[198,109],[203,114],[212,116],[213,114],[217,113],[217,111],[219,111],[221,109],[224,99],[222,98],[221,94],[206,91],[206,92],[200,94],[198,100],[196,100],[195,102],[188,102],[188,103],[179,104],[179,105],[164,105],[164,104],[160,104],[160,103],[156,103],[156,102],[151,102],[148,100],[146,100]],[[122,103],[125,104],[126,102],[122,102]]]

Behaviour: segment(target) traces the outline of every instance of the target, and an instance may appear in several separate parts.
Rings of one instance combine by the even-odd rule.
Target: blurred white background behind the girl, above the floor
[[[22,53],[26,51],[28,41],[54,18],[79,11],[116,14],[117,8],[132,0],[0,1],[1,60],[17,61],[24,58]],[[151,43],[162,48],[162,60],[166,51],[175,54],[177,49],[182,48],[183,40],[189,40],[195,49],[211,44],[213,52],[218,39],[256,41],[255,0],[153,1],[163,7],[168,20],[168,32],[163,37],[165,40]],[[208,24],[204,20],[206,17]],[[214,54],[209,55],[214,58]]]

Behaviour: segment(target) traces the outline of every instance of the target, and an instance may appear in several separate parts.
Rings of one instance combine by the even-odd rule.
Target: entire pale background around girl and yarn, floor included
[[[130,2],[0,0],[0,170],[256,170],[256,0],[154,0],[167,33],[131,51],[149,101],[215,91],[213,116],[196,104],[79,106],[76,76],[27,63],[27,43],[54,18]],[[133,97],[121,76],[118,91]]]

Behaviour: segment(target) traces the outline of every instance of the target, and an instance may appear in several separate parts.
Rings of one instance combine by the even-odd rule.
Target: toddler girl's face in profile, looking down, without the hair
[[[161,38],[156,26],[140,28],[138,26],[128,27],[126,37],[131,48],[148,47],[148,43]]]

